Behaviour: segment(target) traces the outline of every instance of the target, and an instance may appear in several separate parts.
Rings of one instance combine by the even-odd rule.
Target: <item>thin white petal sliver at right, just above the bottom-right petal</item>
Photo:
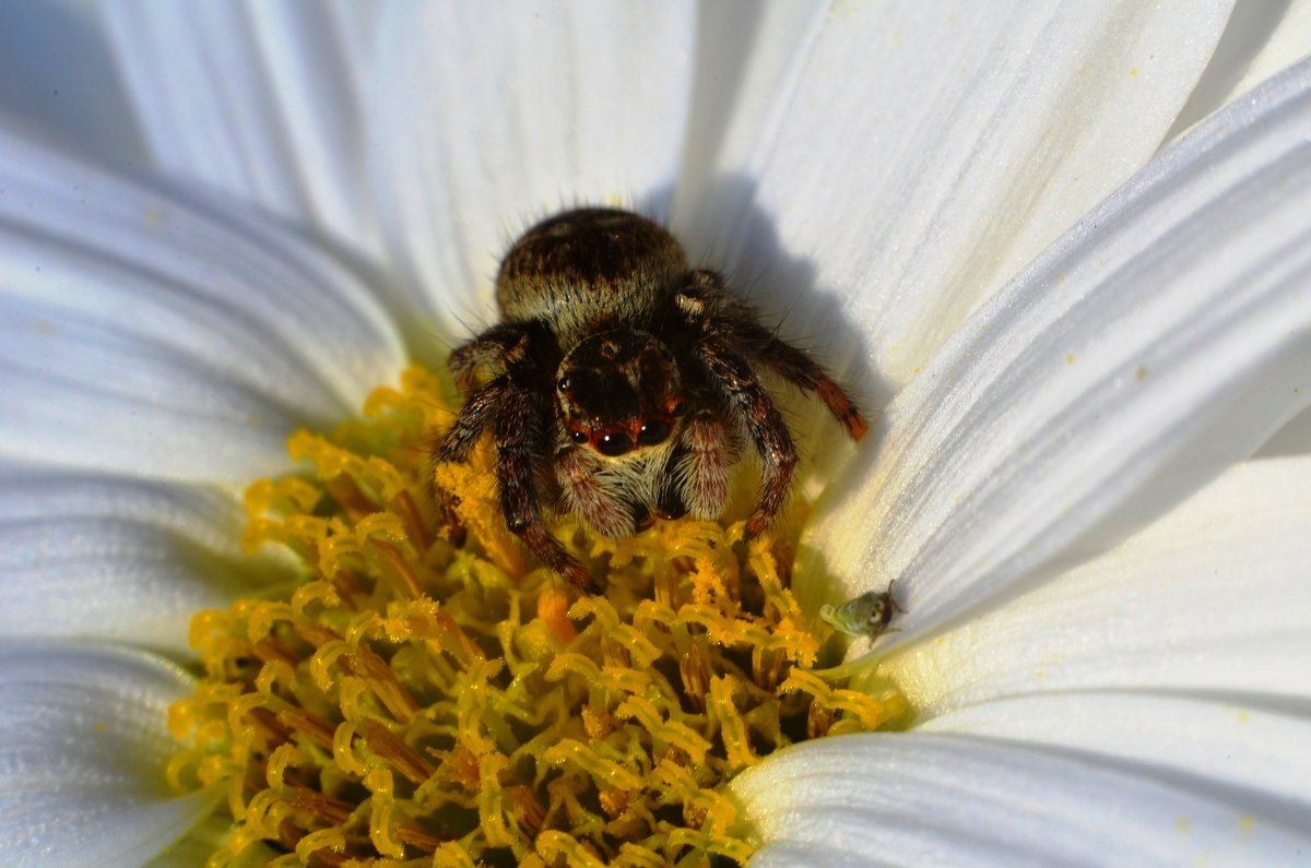
[[[1311,819],[1311,716],[1278,699],[1223,699],[1109,691],[1044,694],[970,705],[916,725],[916,732],[986,736],[1145,766],[1265,802],[1269,817],[1306,827]]]

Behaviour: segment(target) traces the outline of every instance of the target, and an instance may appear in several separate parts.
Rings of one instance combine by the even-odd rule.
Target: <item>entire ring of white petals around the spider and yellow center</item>
[[[198,864],[187,620],[284,574],[239,492],[579,202],[666,218],[878,410],[851,448],[792,405],[797,586],[897,580],[919,722],[741,776],[754,865],[1311,861],[1311,3],[0,25],[7,864]]]

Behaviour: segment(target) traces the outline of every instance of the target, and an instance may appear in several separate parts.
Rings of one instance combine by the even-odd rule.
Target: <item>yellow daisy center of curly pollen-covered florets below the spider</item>
[[[906,712],[810,671],[829,628],[789,589],[804,503],[750,544],[741,523],[616,543],[566,519],[604,577],[579,597],[506,530],[488,448],[433,472],[452,421],[412,368],[333,437],[291,437],[312,477],[248,490],[246,547],[288,548],[304,577],[191,623],[203,678],[170,712],[169,771],[227,785],[211,865],[743,863],[733,775]],[[459,545],[434,481],[460,498]]]

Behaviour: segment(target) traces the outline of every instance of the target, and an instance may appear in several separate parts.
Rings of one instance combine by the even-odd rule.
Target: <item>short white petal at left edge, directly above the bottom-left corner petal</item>
[[[135,479],[0,471],[0,637],[98,639],[189,654],[191,615],[294,573],[245,556],[229,494]]]

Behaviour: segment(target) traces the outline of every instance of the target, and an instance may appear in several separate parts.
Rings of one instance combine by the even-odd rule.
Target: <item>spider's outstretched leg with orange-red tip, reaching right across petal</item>
[[[696,311],[708,326],[743,347],[753,361],[767,365],[798,388],[817,393],[851,439],[859,441],[865,435],[869,424],[818,362],[760,325],[750,307],[724,291],[724,278],[718,273],[701,269],[691,277],[692,287],[679,294],[680,308]]]

